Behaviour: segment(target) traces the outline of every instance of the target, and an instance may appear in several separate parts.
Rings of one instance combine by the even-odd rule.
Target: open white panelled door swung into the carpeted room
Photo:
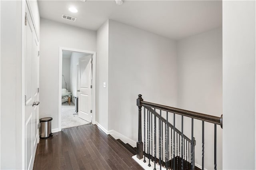
[[[92,122],[92,57],[79,58],[78,64],[78,117]]]

